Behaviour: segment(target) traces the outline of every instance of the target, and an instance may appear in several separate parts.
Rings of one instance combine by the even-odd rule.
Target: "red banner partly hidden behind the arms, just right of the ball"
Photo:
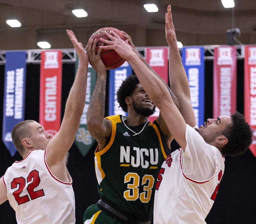
[[[146,61],[168,85],[168,48],[147,48]],[[153,122],[158,116],[159,109],[156,108],[156,112],[148,120]]]

